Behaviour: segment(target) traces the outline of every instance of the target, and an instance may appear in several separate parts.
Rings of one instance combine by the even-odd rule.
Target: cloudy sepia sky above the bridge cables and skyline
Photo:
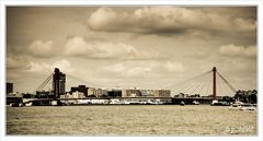
[[[15,92],[34,92],[54,68],[88,86],[162,89],[217,67],[235,89],[253,90],[256,50],[255,7],[7,10],[7,81]]]

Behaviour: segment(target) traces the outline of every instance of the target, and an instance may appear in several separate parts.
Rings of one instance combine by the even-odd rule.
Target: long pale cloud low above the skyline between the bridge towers
[[[111,66],[105,66],[102,68],[107,72],[113,72],[122,77],[140,77],[147,75],[149,73],[157,74],[167,72],[183,72],[184,67],[180,62],[175,61],[125,61],[118,62]]]

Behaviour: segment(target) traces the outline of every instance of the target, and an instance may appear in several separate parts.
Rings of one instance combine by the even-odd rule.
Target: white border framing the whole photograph
[[[242,7],[242,5],[254,5],[258,8],[258,136],[255,137],[53,137],[53,136],[7,136],[5,131],[5,51],[7,51],[7,7],[18,5],[18,7],[93,7],[93,5],[193,5],[193,7]],[[262,31],[262,20],[263,20],[263,1],[261,0],[1,0],[0,1],[0,140],[1,141],[46,141],[46,140],[57,140],[57,141],[123,141],[123,140],[149,140],[149,141],[262,141],[263,140],[263,87],[262,87],[262,46],[263,46],[263,31]]]

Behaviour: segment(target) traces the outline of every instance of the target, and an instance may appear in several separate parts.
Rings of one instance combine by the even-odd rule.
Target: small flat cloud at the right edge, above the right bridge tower
[[[255,57],[256,47],[255,46],[237,46],[233,44],[224,45],[219,47],[219,54],[224,56],[232,57]]]

